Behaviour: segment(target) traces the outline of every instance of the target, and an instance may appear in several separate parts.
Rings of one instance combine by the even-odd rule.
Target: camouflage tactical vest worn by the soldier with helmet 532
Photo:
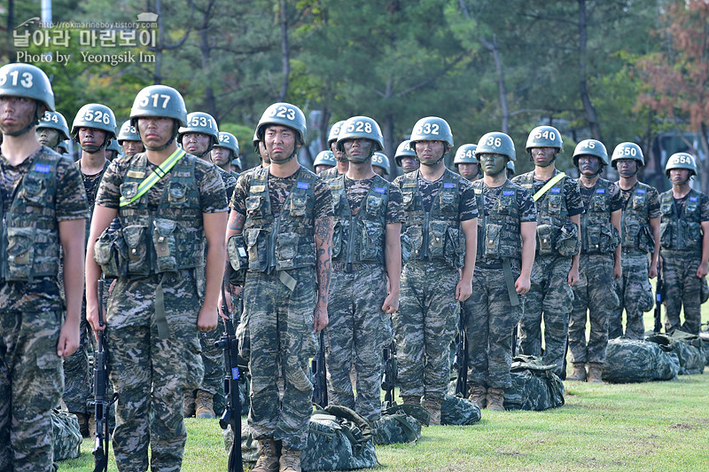
[[[431,210],[426,212],[418,192],[420,170],[401,178],[401,196],[406,214],[406,232],[401,236],[404,259],[410,252],[411,260],[442,260],[455,269],[463,267],[465,234],[460,227],[460,185],[463,177],[446,169],[442,186],[433,198]]]

